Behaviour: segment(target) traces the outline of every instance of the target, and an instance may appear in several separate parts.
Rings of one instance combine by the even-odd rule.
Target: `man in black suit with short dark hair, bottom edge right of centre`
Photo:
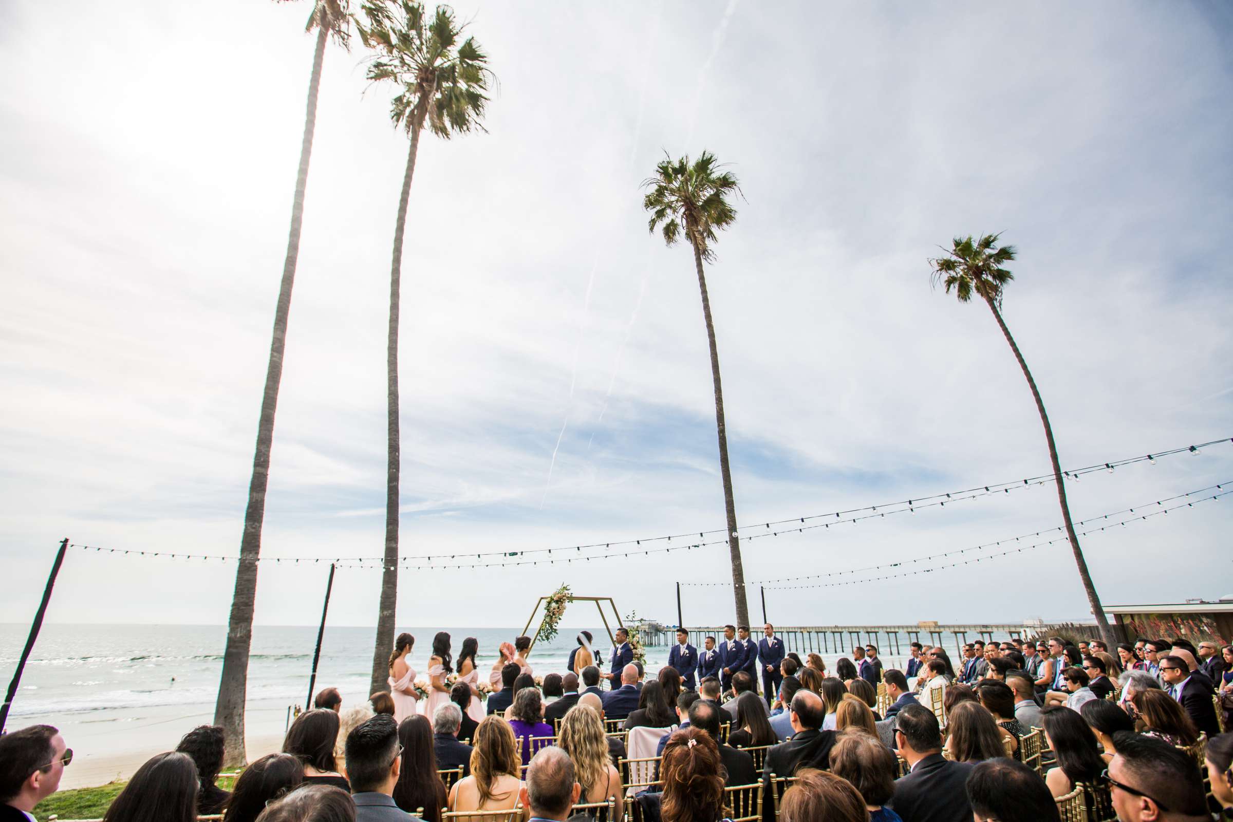
[[[942,731],[933,711],[907,705],[895,715],[895,744],[911,773],[895,783],[889,806],[904,822],[969,822],[972,806],[964,785],[968,762],[942,757]]]

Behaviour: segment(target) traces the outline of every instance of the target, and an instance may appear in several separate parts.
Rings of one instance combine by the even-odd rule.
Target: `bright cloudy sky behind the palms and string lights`
[[[968,233],[1004,232],[1018,249],[1005,319],[1063,468],[1226,440],[1068,482],[1075,519],[1233,481],[1233,15],[1147,2],[455,9],[499,83],[486,132],[425,138],[416,168],[403,555],[440,564],[724,527],[692,255],[647,233],[640,190],[666,154],[704,149],[743,192],[707,270],[742,529],[1048,472],[990,312],[931,287],[928,258]],[[64,537],[238,552],[307,15],[305,2],[233,0],[205,17],[154,0],[123,14],[0,5],[0,621],[28,622]],[[265,557],[382,552],[390,249],[408,143],[365,59],[358,41],[326,54]],[[1231,507],[1083,537],[1104,601],[1233,594]],[[751,619],[758,580],[1059,524],[1046,484],[745,541]],[[1060,542],[869,576],[771,585],[767,616],[1090,619]],[[263,564],[256,621],[314,622],[324,577],[321,563]],[[374,625],[379,577],[340,569],[330,622]],[[233,582],[228,562],[74,548],[47,619],[222,625]],[[522,627],[568,583],[676,622],[677,582],[730,583],[726,547],[407,569],[397,619]],[[724,587],[686,585],[682,609],[687,624],[734,619]],[[575,621],[594,617],[576,608],[563,625]]]

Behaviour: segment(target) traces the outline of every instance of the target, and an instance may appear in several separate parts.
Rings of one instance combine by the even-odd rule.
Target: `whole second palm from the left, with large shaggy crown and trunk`
[[[386,539],[381,572],[377,636],[372,652],[372,691],[386,690],[387,661],[393,647],[395,605],[398,600],[398,297],[402,287],[402,242],[407,228],[407,201],[416,173],[419,134],[425,127],[441,139],[455,133],[483,131],[492,81],[488,57],[473,37],[461,43],[460,26],[449,6],[432,15],[414,0],[383,0],[361,6],[366,25],[359,26],[365,46],[376,51],[367,78],[392,81],[401,87],[390,117],[407,132],[411,148],[402,176],[398,217],[393,227],[390,264],[390,327],[386,343]]]

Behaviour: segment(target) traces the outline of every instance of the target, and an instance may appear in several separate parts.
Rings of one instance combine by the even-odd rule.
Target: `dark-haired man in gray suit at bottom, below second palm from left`
[[[346,776],[351,783],[355,822],[422,822],[393,802],[402,765],[398,723],[381,714],[346,735]]]

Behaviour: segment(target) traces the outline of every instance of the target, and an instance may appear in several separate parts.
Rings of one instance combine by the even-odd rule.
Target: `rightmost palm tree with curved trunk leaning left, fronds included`
[[[1002,295],[1006,291],[1006,285],[1015,279],[1015,275],[1004,266],[1015,259],[1015,246],[999,246],[999,237],[1001,235],[985,234],[979,240],[972,235],[956,237],[949,249],[942,249],[946,251],[946,256],[930,259],[930,265],[933,269],[933,283],[937,285],[941,282],[946,288],[946,293],[951,293],[953,288],[959,302],[970,301],[973,295],[984,299],[985,304],[989,306],[989,311],[994,313],[994,319],[997,320],[997,327],[1001,329],[1002,335],[1010,344],[1010,350],[1015,352],[1018,367],[1023,370],[1027,386],[1032,389],[1032,398],[1036,399],[1036,410],[1041,414],[1041,424],[1044,425],[1044,441],[1049,446],[1049,462],[1053,463],[1053,482],[1058,487],[1062,520],[1065,523],[1067,537],[1070,540],[1070,550],[1074,552],[1075,564],[1079,566],[1079,578],[1083,580],[1084,590],[1088,592],[1088,603],[1091,605],[1091,612],[1100,626],[1101,636],[1110,647],[1113,647],[1117,640],[1108,627],[1105,609],[1100,605],[1096,587],[1091,582],[1091,574],[1088,573],[1088,562],[1084,560],[1083,550],[1079,547],[1075,526],[1070,521],[1070,507],[1067,504],[1067,487],[1062,482],[1062,467],[1058,462],[1058,446],[1053,441],[1053,428],[1049,425],[1049,415],[1044,412],[1044,401],[1041,399],[1041,392],[1036,387],[1032,372],[1027,368],[1027,361],[1023,360],[1023,354],[1018,350],[1018,345],[1016,345],[1015,338],[1011,336],[1010,329],[1006,328],[1006,322],[1001,315]]]

